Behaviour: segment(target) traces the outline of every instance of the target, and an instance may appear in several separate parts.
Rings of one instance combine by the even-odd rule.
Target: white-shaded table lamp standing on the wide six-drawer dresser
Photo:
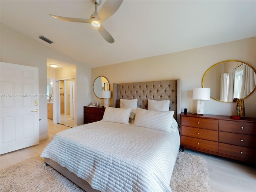
[[[194,88],[193,100],[197,101],[197,115],[204,115],[204,100],[210,100],[210,88]]]

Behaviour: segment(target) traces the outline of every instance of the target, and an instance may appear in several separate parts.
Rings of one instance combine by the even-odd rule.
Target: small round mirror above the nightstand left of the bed
[[[93,91],[94,94],[102,99],[101,92],[102,91],[109,91],[109,82],[107,78],[103,76],[99,76],[96,78],[96,80],[93,83]]]

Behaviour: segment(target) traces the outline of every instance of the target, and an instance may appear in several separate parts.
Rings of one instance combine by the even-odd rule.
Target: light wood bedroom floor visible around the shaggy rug
[[[48,124],[48,139],[40,141],[36,146],[2,154],[1,169],[40,155],[57,132],[68,128],[61,124]],[[206,159],[212,192],[256,192],[256,166],[192,150],[185,150],[185,152],[200,155]]]

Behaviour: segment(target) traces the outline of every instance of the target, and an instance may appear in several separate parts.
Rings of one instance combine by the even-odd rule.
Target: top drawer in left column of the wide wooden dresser
[[[182,126],[218,130],[219,120],[182,116]]]

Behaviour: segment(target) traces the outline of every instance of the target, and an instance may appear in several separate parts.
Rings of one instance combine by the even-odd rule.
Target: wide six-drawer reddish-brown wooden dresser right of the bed
[[[181,145],[218,156],[256,163],[256,118],[180,115]]]

